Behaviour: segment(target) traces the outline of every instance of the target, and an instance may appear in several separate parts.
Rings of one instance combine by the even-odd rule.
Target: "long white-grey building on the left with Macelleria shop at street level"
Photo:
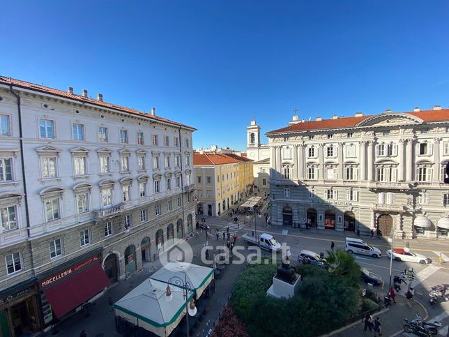
[[[195,128],[0,77],[0,131],[6,336],[49,327],[192,230]]]

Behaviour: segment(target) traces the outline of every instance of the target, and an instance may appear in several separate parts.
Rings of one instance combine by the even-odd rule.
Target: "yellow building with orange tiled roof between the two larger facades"
[[[194,153],[197,212],[219,216],[252,192],[252,160],[231,153]]]

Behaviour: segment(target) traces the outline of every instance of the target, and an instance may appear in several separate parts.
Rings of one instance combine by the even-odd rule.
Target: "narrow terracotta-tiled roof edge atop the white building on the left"
[[[53,89],[50,87],[45,87],[43,85],[40,84],[34,84],[31,82],[25,82],[22,80],[16,80],[14,78],[10,78],[10,77],[5,77],[5,76],[0,76],[0,84],[5,84],[5,85],[10,85],[13,84],[14,87],[20,87],[23,89],[29,89],[29,90],[33,90],[33,91],[38,91],[41,93],[49,93],[51,95],[55,95],[55,96],[59,96],[59,97],[63,97],[63,98],[69,98],[71,100],[77,100],[79,102],[82,103],[89,103],[92,105],[98,105],[100,107],[105,107],[105,108],[109,108],[109,109],[114,109],[114,110],[119,110],[121,112],[128,112],[129,114],[136,114],[138,116],[141,117],[145,117],[148,119],[154,119],[155,121],[160,121],[163,123],[169,123],[172,124],[174,126],[182,126],[185,128],[190,128],[192,130],[197,130],[195,128],[192,128],[191,126],[187,126],[185,124],[181,124],[178,123],[176,121],[171,121],[169,119],[165,119],[162,117],[158,117],[158,116],[152,116],[151,114],[146,114],[145,112],[139,111],[139,110],[135,110],[135,109],[130,109],[129,107],[122,107],[120,105],[115,105],[112,103],[107,103],[107,102],[102,102],[100,100],[95,100],[93,98],[89,98],[89,97],[84,97],[82,95],[77,95],[75,93],[68,93],[67,91],[62,91],[62,90],[58,90],[58,89]]]

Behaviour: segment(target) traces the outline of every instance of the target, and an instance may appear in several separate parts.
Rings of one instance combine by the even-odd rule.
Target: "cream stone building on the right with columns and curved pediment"
[[[449,110],[296,121],[266,135],[275,225],[448,238]]]

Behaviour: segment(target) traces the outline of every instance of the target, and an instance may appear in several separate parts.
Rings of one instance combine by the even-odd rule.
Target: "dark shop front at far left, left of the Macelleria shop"
[[[0,292],[0,336],[31,336],[40,331],[36,280]]]

